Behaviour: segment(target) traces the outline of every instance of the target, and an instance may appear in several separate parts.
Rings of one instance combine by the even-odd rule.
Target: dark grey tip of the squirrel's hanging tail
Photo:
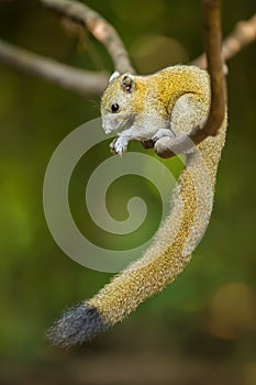
[[[46,332],[46,338],[56,346],[69,348],[92,340],[110,328],[99,310],[87,302],[68,309]]]

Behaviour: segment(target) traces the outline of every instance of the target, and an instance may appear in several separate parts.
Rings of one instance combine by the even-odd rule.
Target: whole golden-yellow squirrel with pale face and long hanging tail
[[[146,76],[114,73],[101,99],[103,130],[121,131],[111,151],[121,155],[132,140],[152,141],[156,151],[163,150],[167,139],[175,141],[205,120],[210,99],[210,76],[196,66],[177,65]],[[48,331],[54,344],[91,340],[183,271],[210,220],[225,132],[226,114],[215,136],[187,152],[171,211],[149,249],[94,297],[64,312]]]

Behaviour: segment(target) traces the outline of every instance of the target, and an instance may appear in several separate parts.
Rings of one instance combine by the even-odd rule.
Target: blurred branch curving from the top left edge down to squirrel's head
[[[115,70],[134,73],[129,54],[115,29],[88,6],[70,0],[41,0],[42,4],[87,28],[108,50]]]

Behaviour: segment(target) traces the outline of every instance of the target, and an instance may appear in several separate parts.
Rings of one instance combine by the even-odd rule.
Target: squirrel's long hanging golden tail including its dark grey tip
[[[115,275],[94,297],[64,312],[47,333],[54,344],[70,346],[91,340],[183,271],[210,220],[225,127],[226,122],[216,136],[208,138],[187,155],[171,212],[143,257]]]

